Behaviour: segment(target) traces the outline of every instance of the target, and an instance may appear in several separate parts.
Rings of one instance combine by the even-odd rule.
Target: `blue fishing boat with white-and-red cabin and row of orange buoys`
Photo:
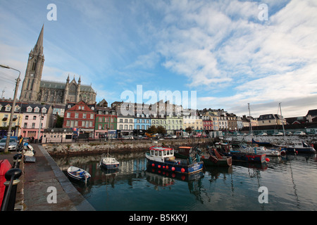
[[[179,159],[174,156],[173,148],[152,146],[149,153],[145,153],[148,166],[181,174],[192,174],[202,170],[204,162],[197,154],[195,158]]]

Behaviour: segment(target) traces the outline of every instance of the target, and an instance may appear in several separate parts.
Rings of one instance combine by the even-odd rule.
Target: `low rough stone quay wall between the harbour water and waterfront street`
[[[132,153],[147,151],[151,146],[170,146],[177,148],[178,146],[196,146],[199,143],[204,148],[211,143],[213,139],[171,139],[157,141],[113,141],[107,142],[85,142],[85,143],[46,143],[42,146],[49,155],[89,155],[94,153]]]

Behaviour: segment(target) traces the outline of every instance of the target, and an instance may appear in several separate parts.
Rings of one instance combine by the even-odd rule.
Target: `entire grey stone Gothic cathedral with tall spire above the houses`
[[[81,84],[80,77],[77,82],[75,76],[70,81],[69,75],[66,82],[42,80],[44,65],[43,35],[44,25],[37,39],[37,44],[29,54],[20,101],[58,105],[66,105],[67,102],[85,101],[85,103],[94,104],[97,93],[91,85]]]

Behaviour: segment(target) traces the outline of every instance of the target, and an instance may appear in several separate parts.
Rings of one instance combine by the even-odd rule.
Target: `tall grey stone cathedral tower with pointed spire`
[[[20,101],[38,101],[39,85],[42,79],[44,65],[43,53],[43,32],[44,25],[37,39],[34,49],[30,51],[27,61],[27,69],[23,80]]]

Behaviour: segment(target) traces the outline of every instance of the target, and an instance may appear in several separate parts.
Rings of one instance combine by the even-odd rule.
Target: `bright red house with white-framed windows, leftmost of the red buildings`
[[[74,134],[86,134],[94,138],[95,105],[87,105],[84,101],[67,103],[63,127],[72,128]]]

